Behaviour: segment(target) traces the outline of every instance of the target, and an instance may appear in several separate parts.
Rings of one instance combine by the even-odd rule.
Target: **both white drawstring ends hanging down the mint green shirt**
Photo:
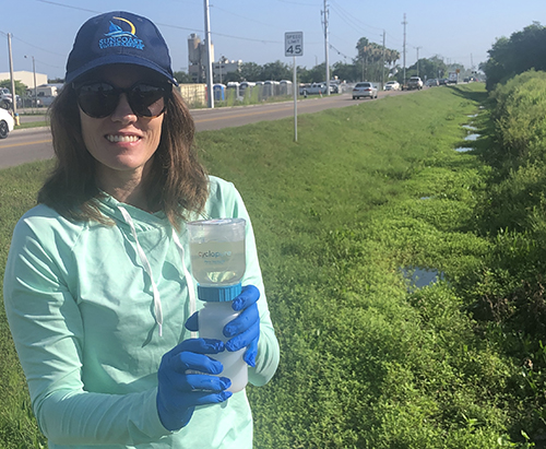
[[[152,283],[152,291],[154,294],[155,322],[157,323],[157,327],[159,329],[159,336],[163,336],[162,299],[159,296],[159,291],[157,290],[157,284],[154,281],[154,275],[152,273],[152,267],[150,265],[147,257],[139,243],[139,237],[136,236],[136,229],[134,228],[134,223],[133,223],[133,220],[131,218],[131,215],[121,205],[118,205],[118,209],[120,210],[121,214],[123,215],[126,223],[131,227],[131,233],[133,235],[133,238],[134,238],[134,241],[136,245],[136,253],[139,255],[140,261],[141,261],[142,265],[144,267],[145,272],[150,276],[150,282]],[[195,288],[193,286],[193,279],[191,277],[190,272],[186,268],[185,250],[183,250],[182,245],[180,244],[180,239],[178,238],[175,229],[173,229],[173,239],[175,240],[175,245],[178,249],[178,252],[180,253],[180,260],[182,262],[183,276],[186,277],[186,284],[188,286],[188,294],[190,296],[190,317],[191,317],[197,310]],[[191,332],[191,338],[192,339],[197,338],[197,332]]]

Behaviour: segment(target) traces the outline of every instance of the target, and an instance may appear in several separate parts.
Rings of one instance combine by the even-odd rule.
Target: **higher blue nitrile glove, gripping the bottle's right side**
[[[224,327],[224,335],[230,338],[226,342],[226,350],[229,352],[239,351],[246,347],[247,351],[242,359],[250,366],[256,366],[256,356],[258,354],[258,340],[260,339],[260,314],[258,311],[257,300],[260,298],[260,291],[253,285],[246,285],[242,292],[233,302],[233,309],[240,311],[240,315],[229,321]],[[186,327],[190,331],[198,331],[198,315],[193,314]]]

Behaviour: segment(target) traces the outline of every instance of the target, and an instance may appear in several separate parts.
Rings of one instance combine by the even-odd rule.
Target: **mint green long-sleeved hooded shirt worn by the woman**
[[[131,215],[152,276],[120,205]],[[225,403],[198,406],[178,432],[163,427],[156,409],[161,358],[190,338],[183,326],[190,315],[182,267],[190,267],[188,233],[182,224],[182,262],[163,213],[150,214],[111,197],[100,200],[100,210],[114,225],[70,222],[37,205],[17,223],[8,258],[4,307],[49,448],[251,448],[252,416],[245,390]],[[249,381],[262,386],[278,365],[278,343],[252,226],[232,184],[210,178],[202,217],[247,221],[242,284],[260,290],[260,340]],[[163,335],[151,277],[161,297]]]

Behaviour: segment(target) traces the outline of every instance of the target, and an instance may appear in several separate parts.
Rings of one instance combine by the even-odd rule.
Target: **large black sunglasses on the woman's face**
[[[136,116],[153,118],[165,111],[173,87],[168,83],[138,82],[129,88],[121,88],[99,81],[76,85],[74,88],[78,104],[90,117],[105,118],[112,115],[118,107],[119,97],[126,94],[129,106]]]

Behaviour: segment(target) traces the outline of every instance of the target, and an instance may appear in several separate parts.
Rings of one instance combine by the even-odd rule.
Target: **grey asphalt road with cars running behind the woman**
[[[379,98],[392,95],[405,95],[412,92],[380,92]],[[320,110],[354,106],[370,99],[352,99],[351,94],[307,98],[298,101],[298,117]],[[191,115],[199,131],[217,130],[229,127],[254,123],[264,120],[277,120],[294,117],[294,102],[272,103],[265,105],[238,106],[232,108],[192,109]],[[22,121],[43,120],[43,117],[22,116]],[[0,168],[12,167],[33,161],[47,159],[54,156],[51,133],[49,128],[31,128],[14,130],[8,139],[0,141]]]

